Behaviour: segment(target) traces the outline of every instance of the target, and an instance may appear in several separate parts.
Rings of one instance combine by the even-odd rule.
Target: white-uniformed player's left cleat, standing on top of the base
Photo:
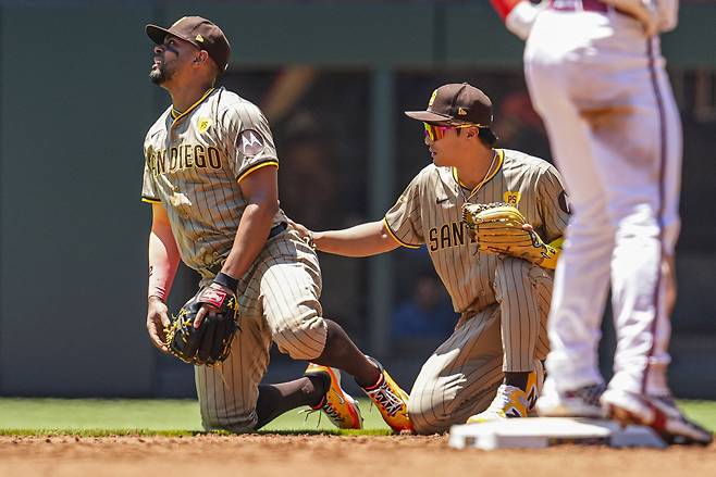
[[[605,417],[600,398],[606,387],[598,382],[582,386],[570,391],[558,392],[550,378],[545,380],[544,392],[538,399],[535,409],[542,417]]]

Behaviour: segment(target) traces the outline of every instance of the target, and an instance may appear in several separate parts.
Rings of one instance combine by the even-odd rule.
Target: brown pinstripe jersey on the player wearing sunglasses
[[[569,218],[561,178],[550,163],[498,149],[498,168],[470,199],[472,203],[516,205],[546,242],[563,236]],[[384,224],[403,246],[425,244],[456,312],[495,303],[496,255],[481,253],[462,224],[461,208],[471,191],[450,167],[424,167],[408,185]]]

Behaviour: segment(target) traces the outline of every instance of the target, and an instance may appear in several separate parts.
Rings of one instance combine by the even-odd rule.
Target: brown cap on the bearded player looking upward
[[[145,27],[147,35],[151,40],[161,45],[164,42],[166,35],[175,36],[189,43],[206,50],[209,57],[217,63],[220,72],[224,72],[229,66],[231,57],[231,45],[224,33],[213,23],[201,16],[183,16],[169,28],[162,28],[157,25],[147,25]]]

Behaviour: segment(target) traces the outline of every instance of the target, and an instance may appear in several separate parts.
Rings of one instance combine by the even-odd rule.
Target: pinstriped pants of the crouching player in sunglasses
[[[484,411],[505,371],[533,371],[547,351],[552,272],[513,258],[498,262],[496,303],[460,319],[422,366],[408,414],[416,431],[443,432]]]

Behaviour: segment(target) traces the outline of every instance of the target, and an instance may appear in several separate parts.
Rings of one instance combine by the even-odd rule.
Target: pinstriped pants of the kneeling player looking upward
[[[239,326],[226,361],[195,366],[205,429],[250,430],[271,342],[295,360],[318,357],[326,326],[316,252],[292,231],[271,238],[239,280]]]

